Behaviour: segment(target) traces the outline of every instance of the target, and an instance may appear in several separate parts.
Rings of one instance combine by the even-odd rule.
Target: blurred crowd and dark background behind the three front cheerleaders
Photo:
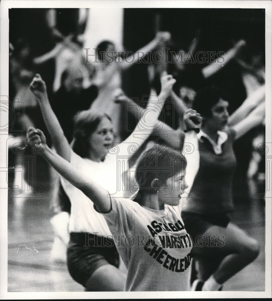
[[[124,95],[141,99],[142,95],[150,93],[150,87],[159,92],[159,74],[163,70],[177,80],[174,91],[189,106],[199,89],[208,85],[219,87],[229,96],[230,114],[251,92],[264,85],[262,10],[124,9],[123,46],[118,45],[117,49],[109,36],[108,40],[98,43],[99,51],[135,52],[155,37],[158,43],[154,50],[168,49],[168,53],[176,53],[177,62],[168,59],[168,63],[155,64],[142,60],[142,63],[137,62],[139,64],[127,64],[128,68],[121,71],[115,70],[118,67],[115,64],[101,67],[101,63],[92,62],[92,56],[86,56],[86,40],[92,39],[86,30],[90,11],[77,8],[10,9],[9,99],[15,111],[14,99],[23,102],[24,107],[21,118],[10,124],[13,135],[16,129],[27,130],[29,126],[46,132],[35,97],[29,90],[36,73],[46,82],[49,101],[69,141],[73,117],[89,108],[114,115],[118,130],[116,139],[126,138],[129,131],[122,125],[127,115],[120,114],[124,109]],[[107,20],[102,23],[106,28]],[[162,31],[168,32],[170,38],[159,37],[158,33]],[[225,54],[224,62],[213,63],[212,59],[215,62],[220,51]],[[203,63],[195,61],[199,52],[206,58]],[[209,52],[214,54],[207,59]],[[178,59],[180,54],[183,62]],[[142,105],[145,105],[144,101]],[[164,121],[178,127],[177,114],[170,114]],[[136,121],[129,120],[127,124],[133,128]],[[236,143],[239,176],[264,180],[264,158],[256,151],[257,145],[264,141],[264,133],[264,126],[260,126]],[[25,132],[19,134],[23,141]]]

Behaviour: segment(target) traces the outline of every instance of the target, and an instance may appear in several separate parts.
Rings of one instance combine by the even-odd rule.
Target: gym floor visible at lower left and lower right
[[[18,189],[9,189],[8,292],[83,291],[70,277],[65,264],[50,262],[53,229],[49,222],[52,198],[49,179],[46,172],[37,175],[37,191],[44,198],[17,198],[13,195]],[[224,284],[224,291],[261,292],[265,290],[265,202],[255,195],[256,191],[264,192],[264,183],[258,185],[253,181],[248,185],[241,181],[236,186],[239,189],[235,188],[236,211],[232,221],[260,242],[261,252],[252,264]]]

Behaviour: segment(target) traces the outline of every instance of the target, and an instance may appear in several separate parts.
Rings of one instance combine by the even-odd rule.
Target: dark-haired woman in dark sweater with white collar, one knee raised
[[[231,223],[227,214],[233,211],[233,142],[263,122],[264,95],[263,86],[230,117],[228,102],[216,88],[195,97],[194,108],[203,118],[197,135],[200,163],[190,190],[194,197],[187,198],[181,215],[196,245],[192,254],[199,273],[198,279],[192,277],[192,290],[220,290],[258,256],[258,242]]]

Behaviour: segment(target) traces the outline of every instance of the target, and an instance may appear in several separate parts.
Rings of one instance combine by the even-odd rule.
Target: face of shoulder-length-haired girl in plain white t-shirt
[[[108,154],[108,145],[112,142],[114,142],[112,123],[107,117],[104,117],[90,135],[90,158],[95,161],[104,160]]]

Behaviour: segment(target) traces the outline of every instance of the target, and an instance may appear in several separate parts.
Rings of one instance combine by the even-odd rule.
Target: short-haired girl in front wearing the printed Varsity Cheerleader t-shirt
[[[193,116],[196,113],[191,110],[185,118]],[[128,270],[126,291],[187,290],[192,243],[180,218],[180,195],[188,187],[186,159],[180,152],[155,146],[141,155],[135,171],[139,191],[133,202],[108,197],[108,191],[92,178],[54,154],[40,130],[30,128],[28,141],[43,144],[45,160],[89,197],[105,217]]]

